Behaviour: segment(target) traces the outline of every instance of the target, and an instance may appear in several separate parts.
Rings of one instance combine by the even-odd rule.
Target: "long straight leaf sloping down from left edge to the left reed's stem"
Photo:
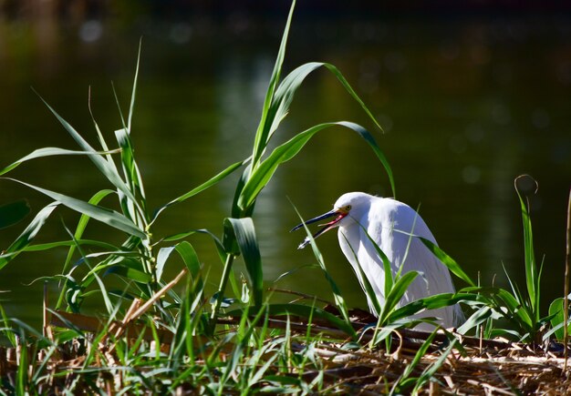
[[[79,213],[88,215],[91,218],[95,218],[96,220],[108,224],[111,227],[118,228],[121,231],[127,232],[128,234],[134,235],[140,239],[147,239],[147,235],[142,229],[138,228],[135,223],[130,221],[129,218],[126,218],[115,210],[95,206],[80,199],[67,197],[66,195],[59,194],[45,188],[39,188],[23,181],[16,180],[15,178],[6,179],[16,181],[17,183],[23,184],[29,188],[33,188],[36,191],[47,195],[47,197],[57,200],[57,202],[66,206],[67,208],[71,208],[78,211]]]

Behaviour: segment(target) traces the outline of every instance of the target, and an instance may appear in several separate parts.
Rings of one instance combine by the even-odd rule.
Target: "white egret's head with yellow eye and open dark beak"
[[[363,192],[348,192],[347,194],[343,194],[337,199],[335,205],[333,205],[333,210],[329,210],[327,213],[317,216],[317,218],[311,218],[304,223],[298,224],[292,228],[292,231],[304,227],[304,224],[315,223],[325,218],[333,218],[333,220],[328,223],[320,225],[323,228],[314,234],[313,239],[316,239],[331,228],[345,226],[348,225],[348,223],[354,222],[355,218],[361,218],[362,214],[369,209],[370,200],[372,198],[372,196]],[[306,237],[306,239],[299,244],[297,249],[304,249],[309,242],[310,239]]]

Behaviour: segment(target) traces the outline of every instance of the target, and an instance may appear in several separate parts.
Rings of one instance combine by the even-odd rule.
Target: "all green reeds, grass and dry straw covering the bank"
[[[268,147],[270,139],[278,138],[275,132],[297,88],[319,69],[337,79],[369,122],[382,130],[336,66],[313,62],[282,76],[294,9],[295,2],[285,24],[251,155],[158,209],[148,208],[133,148],[136,133],[131,134],[140,50],[127,117],[123,117],[116,96],[121,115],[121,126],[114,133],[116,147],[108,143],[109,137],[93,116],[100,147],[92,147],[44,101],[79,149],[38,148],[0,169],[0,182],[19,183],[53,200],[35,214],[9,247],[3,247],[0,271],[19,254],[67,249],[67,255],[61,273],[39,279],[46,285],[42,330],[9,318],[0,304],[0,337],[5,345],[0,346],[2,394],[565,394],[571,390],[567,300],[552,301],[546,315],[540,310],[543,263],[535,259],[529,206],[518,188],[522,178],[530,177],[514,181],[524,230],[524,288],[516,285],[507,271],[510,289],[482,285],[442,249],[423,241],[462,287],[456,293],[400,307],[406,274],[386,277],[388,302],[375,318],[348,309],[309,233],[315,259],[331,289],[331,302],[265,285],[252,219],[256,198],[276,169],[295,159],[320,131],[340,127],[362,138],[379,159],[396,196],[387,157],[369,130],[356,123],[324,122],[271,150]],[[109,181],[109,189],[97,191],[84,201],[5,176],[26,161],[53,156],[88,157]],[[153,225],[165,210],[238,171],[242,176],[230,216],[222,220],[221,237],[203,228],[185,229],[175,235],[153,234]],[[569,202],[571,205],[571,196]],[[47,219],[69,209],[79,215],[75,227],[64,225],[69,238],[35,243]],[[0,228],[15,226],[28,212],[26,201],[0,206]],[[566,215],[571,216],[571,208]],[[84,238],[92,220],[119,230],[124,239]],[[223,265],[213,295],[205,291],[206,281],[213,281],[208,279],[208,265],[192,247],[191,240],[197,234],[213,240]],[[242,276],[233,269],[236,260],[244,262]],[[178,275],[172,279],[164,276],[167,266],[180,269]],[[119,288],[117,282],[110,284],[111,277],[120,280]],[[47,295],[48,284],[57,285],[56,298]],[[568,294],[567,289],[562,288],[562,292],[563,296]],[[291,302],[272,302],[277,293],[289,296]],[[374,295],[369,298],[376,300]],[[99,301],[106,313],[86,314],[86,300]],[[456,303],[462,305],[467,317],[460,328],[432,333],[411,329],[416,324],[408,319],[411,315]]]

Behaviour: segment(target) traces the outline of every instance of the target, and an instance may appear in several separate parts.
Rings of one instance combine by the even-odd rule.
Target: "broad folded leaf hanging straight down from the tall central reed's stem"
[[[255,237],[254,222],[252,218],[225,218],[224,228],[232,229],[234,232],[234,239],[244,258],[244,263],[252,283],[254,306],[259,308],[262,306],[264,275],[260,249]]]

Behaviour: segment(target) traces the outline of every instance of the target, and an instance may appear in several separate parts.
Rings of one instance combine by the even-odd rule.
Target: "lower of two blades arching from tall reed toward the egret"
[[[280,164],[283,164],[284,162],[289,161],[295,157],[297,153],[306,146],[306,143],[309,141],[309,139],[317,134],[317,132],[328,127],[336,126],[347,127],[348,129],[357,132],[360,137],[363,137],[365,141],[367,141],[369,147],[373,149],[379,159],[381,157],[384,158],[384,155],[380,151],[380,148],[377,145],[374,137],[372,137],[369,131],[364,127],[348,121],[319,124],[317,126],[310,127],[303,132],[300,132],[281,146],[275,147],[274,151],[267,158],[265,158],[264,162],[262,162],[258,168],[254,169],[251,177],[248,178],[244,188],[242,189],[240,198],[238,198],[238,206],[242,209],[250,207],[254,203],[255,198],[260,193],[260,191],[272,178],[275,170],[279,167]],[[382,159],[381,162],[382,161],[384,161],[384,159]],[[389,178],[392,178],[392,171],[390,168],[386,168],[386,170],[389,173]]]

